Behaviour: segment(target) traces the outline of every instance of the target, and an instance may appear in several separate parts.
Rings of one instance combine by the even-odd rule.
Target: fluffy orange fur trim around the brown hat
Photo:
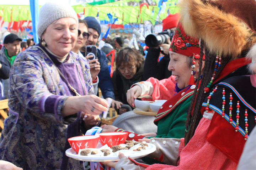
[[[201,38],[211,52],[239,56],[256,42],[256,34],[235,16],[201,0],[181,0],[180,16],[188,35]]]

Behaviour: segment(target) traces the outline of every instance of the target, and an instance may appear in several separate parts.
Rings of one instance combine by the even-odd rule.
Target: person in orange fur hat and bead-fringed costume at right
[[[140,168],[236,169],[256,120],[256,1],[182,0],[180,7],[185,32],[201,38],[205,47],[205,69],[188,110],[176,166]],[[171,140],[166,141],[170,152]],[[126,157],[116,165],[121,167],[139,168]]]

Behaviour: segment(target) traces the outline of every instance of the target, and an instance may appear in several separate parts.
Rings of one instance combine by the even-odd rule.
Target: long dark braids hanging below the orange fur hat
[[[204,44],[202,40],[201,40],[201,44],[202,45]],[[199,77],[197,79],[196,89],[192,96],[190,107],[188,109],[188,115],[186,120],[186,130],[187,129],[188,130],[185,132],[185,145],[187,145],[187,143],[193,137],[194,132],[199,124],[199,121],[202,118],[202,114],[200,110],[201,110],[204,99],[208,95],[208,94],[204,94],[204,88],[208,85],[214,72],[216,54],[210,53],[207,46],[206,45],[204,46],[206,47],[204,69],[203,69],[201,84],[200,84],[197,96],[196,96],[196,89],[198,88]],[[200,66],[199,66],[198,76],[200,76],[200,70],[202,69],[202,57],[203,57],[202,50],[203,48],[200,49]],[[219,68],[219,71],[216,73],[215,78],[218,78],[219,73],[225,67],[226,63],[229,62],[230,58],[231,58],[230,56],[225,56],[222,58],[222,64]],[[191,115],[192,111],[193,111],[193,115]]]

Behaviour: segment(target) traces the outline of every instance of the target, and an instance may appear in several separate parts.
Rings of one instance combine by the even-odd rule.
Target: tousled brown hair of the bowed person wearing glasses
[[[131,49],[129,47],[121,49],[118,53],[117,53],[117,57],[116,57],[116,72],[118,72],[118,67],[124,63],[125,65],[134,63],[137,70],[140,68],[140,66],[142,65],[144,59],[143,56],[140,54],[140,52],[136,49]]]

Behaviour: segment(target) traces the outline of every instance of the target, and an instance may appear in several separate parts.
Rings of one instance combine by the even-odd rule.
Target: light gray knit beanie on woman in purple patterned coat
[[[70,5],[57,2],[46,2],[46,4],[40,8],[39,12],[37,28],[38,38],[41,39],[44,30],[46,30],[53,21],[64,17],[74,18],[78,23],[76,12]]]

